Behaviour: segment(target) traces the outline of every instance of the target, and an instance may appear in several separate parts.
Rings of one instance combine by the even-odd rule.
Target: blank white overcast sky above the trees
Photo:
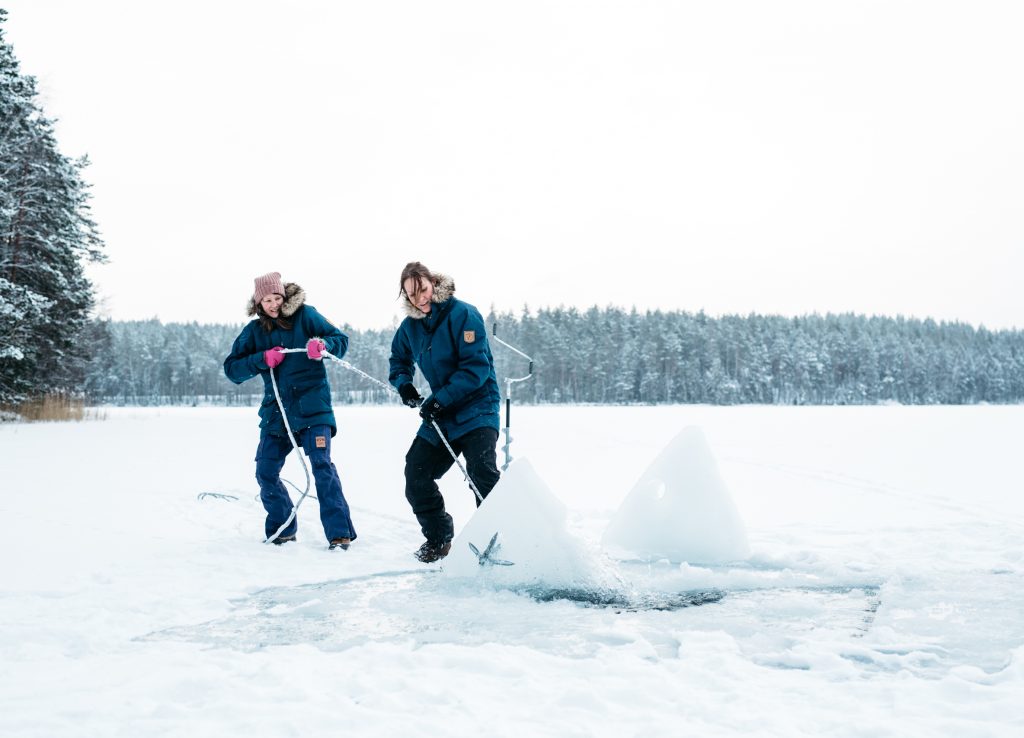
[[[93,162],[115,318],[238,322],[256,274],[383,328],[856,311],[1024,327],[1024,3],[0,0]]]

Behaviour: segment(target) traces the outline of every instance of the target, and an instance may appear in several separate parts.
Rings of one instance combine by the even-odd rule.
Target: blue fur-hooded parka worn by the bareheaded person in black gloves
[[[501,392],[487,332],[479,310],[452,296],[455,285],[438,275],[429,313],[409,306],[391,341],[390,374],[395,387],[412,382],[419,366],[434,398],[445,408],[437,422],[450,440],[477,428],[501,426]],[[415,364],[415,366],[414,366]],[[417,435],[437,445],[426,422]]]

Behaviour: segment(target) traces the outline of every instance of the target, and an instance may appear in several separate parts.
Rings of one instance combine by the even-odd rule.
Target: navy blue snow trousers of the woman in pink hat
[[[327,539],[355,540],[355,527],[352,525],[348,503],[341,491],[341,479],[331,462],[331,426],[303,428],[295,435],[309,460],[313,481],[316,483],[321,522]],[[268,537],[292,514],[292,500],[281,481],[281,470],[291,450],[292,442],[287,436],[273,435],[262,436],[256,448],[256,481],[259,482],[259,496],[266,510],[265,530]],[[297,528],[298,519],[293,520],[281,534],[294,535]]]

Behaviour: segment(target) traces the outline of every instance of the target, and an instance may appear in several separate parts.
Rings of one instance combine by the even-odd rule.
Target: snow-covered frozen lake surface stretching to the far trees
[[[336,409],[348,552],[312,501],[261,542],[255,408],[0,426],[0,734],[1024,735],[1022,406],[516,407],[514,455],[621,583],[590,601],[416,562],[415,414]],[[751,557],[607,558],[687,426]]]

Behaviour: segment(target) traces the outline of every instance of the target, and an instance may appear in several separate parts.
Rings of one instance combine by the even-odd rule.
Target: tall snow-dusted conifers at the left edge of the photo
[[[88,162],[58,150],[35,80],[4,40],[5,17],[0,9],[0,404],[80,391],[93,305],[84,264],[102,259]]]

